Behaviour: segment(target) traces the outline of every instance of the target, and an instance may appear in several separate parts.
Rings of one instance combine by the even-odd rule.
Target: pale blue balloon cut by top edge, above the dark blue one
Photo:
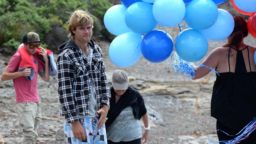
[[[154,18],[163,26],[176,26],[183,20],[185,13],[183,0],[156,0],[153,5]]]

